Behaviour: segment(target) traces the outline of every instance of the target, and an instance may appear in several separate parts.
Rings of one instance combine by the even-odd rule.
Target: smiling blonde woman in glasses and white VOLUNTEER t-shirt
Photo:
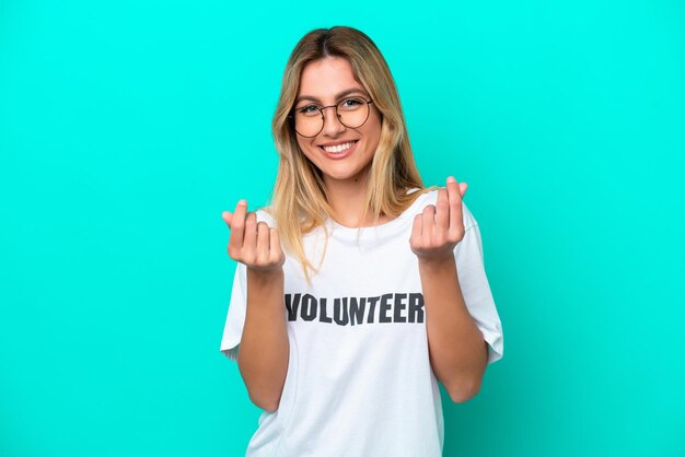
[[[440,456],[438,380],[466,401],[503,352],[466,185],[425,188],[387,65],[350,27],[298,43],[272,132],[271,204],[222,214],[221,351],[265,410],[247,455]]]

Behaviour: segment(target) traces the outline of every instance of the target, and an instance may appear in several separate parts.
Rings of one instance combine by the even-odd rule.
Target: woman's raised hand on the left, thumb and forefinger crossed
[[[224,211],[221,216],[231,228],[229,257],[253,271],[268,272],[283,267],[286,255],[278,231],[264,221],[257,223],[257,214],[247,212],[245,200],[237,202],[235,212]]]

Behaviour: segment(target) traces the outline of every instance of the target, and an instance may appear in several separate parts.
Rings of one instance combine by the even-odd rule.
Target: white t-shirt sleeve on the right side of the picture
[[[456,269],[468,313],[488,343],[488,364],[504,354],[504,338],[490,284],[485,272],[483,242],[478,223],[462,203],[464,238],[454,248]]]

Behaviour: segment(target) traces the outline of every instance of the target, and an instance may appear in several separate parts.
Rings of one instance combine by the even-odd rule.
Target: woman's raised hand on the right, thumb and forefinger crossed
[[[454,247],[464,237],[462,198],[467,187],[450,176],[446,189],[438,190],[436,204],[414,218],[409,245],[419,261],[441,262],[453,257]]]

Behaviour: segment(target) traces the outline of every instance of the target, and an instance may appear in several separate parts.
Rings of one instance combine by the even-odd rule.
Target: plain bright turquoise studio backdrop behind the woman
[[[221,211],[266,203],[286,60],[333,25],[480,226],[504,358],[443,395],[444,455],[685,455],[675,0],[2,1],[0,455],[244,453]]]

